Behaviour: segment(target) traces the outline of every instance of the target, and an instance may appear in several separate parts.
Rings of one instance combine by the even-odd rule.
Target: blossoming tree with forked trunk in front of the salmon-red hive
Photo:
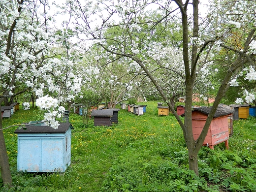
[[[98,1],[88,2],[86,9],[79,0],[69,1],[74,4],[73,11],[78,16],[77,29],[87,34],[92,40],[100,45],[116,59],[126,58],[135,62],[146,74],[162,98],[167,102],[177,121],[179,122],[189,152],[189,166],[198,174],[197,154],[203,144],[210,123],[216,112],[224,93],[229,87],[229,80],[238,73],[245,64],[255,62],[255,53],[251,51],[252,42],[255,39],[255,11],[253,1],[216,1],[213,3],[212,13],[208,20],[200,20],[198,14],[199,0],[144,0],[144,1]],[[158,6],[158,15],[149,15],[148,6]],[[230,7],[232,9],[230,10]],[[190,15],[192,10],[192,15]],[[247,13],[245,13],[245,10]],[[93,17],[89,15],[94,14]],[[154,43],[160,44],[162,50],[170,44],[169,39],[164,38],[166,29],[158,28],[167,26],[172,20],[179,21],[182,26],[182,59],[185,79],[186,113],[184,122],[174,110],[172,102],[160,87],[150,65],[156,64],[158,54],[154,53]],[[101,21],[101,22],[99,22]],[[202,22],[202,23],[200,23]],[[94,24],[94,25],[92,25]],[[241,24],[241,25],[240,25]],[[116,36],[107,35],[110,28],[117,28]],[[161,29],[161,30],[157,30]],[[240,43],[237,46],[232,40],[235,31]],[[162,39],[161,42],[154,41]],[[234,38],[233,38],[234,39]],[[153,42],[152,42],[153,41]],[[250,47],[251,46],[251,47]],[[192,96],[198,77],[198,71],[214,59],[215,54],[222,50],[224,55],[229,55],[228,65],[222,83],[218,89],[215,102],[208,115],[205,126],[198,137],[194,140],[192,134]],[[151,54],[149,54],[151,51]],[[224,56],[223,55],[223,56]],[[173,65],[173,63],[171,63]],[[178,73],[178,71],[176,71]],[[170,76],[175,79],[176,77]]]

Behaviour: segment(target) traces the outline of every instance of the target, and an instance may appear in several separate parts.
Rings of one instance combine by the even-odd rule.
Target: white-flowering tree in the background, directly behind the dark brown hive
[[[110,108],[115,108],[128,98],[141,96],[138,89],[140,74],[130,70],[128,61],[122,58],[116,60],[98,46],[89,50],[85,52],[79,69],[83,71],[81,74],[86,74],[84,90],[95,92],[100,97],[99,100],[108,103]]]

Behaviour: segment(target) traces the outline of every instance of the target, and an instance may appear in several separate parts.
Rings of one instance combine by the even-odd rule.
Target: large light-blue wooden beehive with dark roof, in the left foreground
[[[39,123],[26,128],[14,132],[18,134],[18,171],[64,172],[71,162],[72,125],[60,123],[54,129]]]

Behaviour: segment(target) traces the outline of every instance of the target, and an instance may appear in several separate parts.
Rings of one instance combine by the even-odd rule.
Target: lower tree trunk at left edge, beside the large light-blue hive
[[[2,129],[1,118],[0,118],[0,129]],[[6,151],[2,130],[0,130],[0,171],[1,171],[3,185],[8,185],[10,187],[12,183],[11,170],[9,166],[9,161],[8,161],[8,156],[7,156],[7,151]]]

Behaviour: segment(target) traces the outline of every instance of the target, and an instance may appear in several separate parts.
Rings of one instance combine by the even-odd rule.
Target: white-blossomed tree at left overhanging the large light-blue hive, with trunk
[[[51,51],[60,33],[55,37],[50,30],[51,17],[46,9],[47,2],[42,1],[0,1],[0,104],[31,89],[39,96],[37,105],[48,111],[46,122],[58,128],[55,117],[64,111],[64,107],[58,108],[59,103],[74,98],[80,91],[81,78],[73,73],[73,62],[68,57],[58,59]],[[65,33],[63,39],[67,49]],[[58,99],[43,96],[49,93]],[[0,171],[3,184],[11,185],[1,119]]]

